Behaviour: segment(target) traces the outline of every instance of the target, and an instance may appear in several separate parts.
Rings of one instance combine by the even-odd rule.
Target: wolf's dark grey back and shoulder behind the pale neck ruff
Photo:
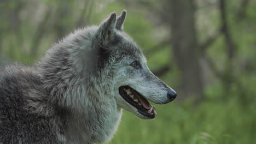
[[[45,109],[42,83],[36,67],[0,70],[0,143],[60,143],[61,122],[52,107]]]

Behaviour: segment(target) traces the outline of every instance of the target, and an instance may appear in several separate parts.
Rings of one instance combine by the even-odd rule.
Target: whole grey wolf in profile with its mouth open
[[[126,11],[100,26],[78,29],[32,66],[0,73],[0,143],[102,143],[118,128],[122,109],[139,118],[176,92],[147,67],[123,31]]]

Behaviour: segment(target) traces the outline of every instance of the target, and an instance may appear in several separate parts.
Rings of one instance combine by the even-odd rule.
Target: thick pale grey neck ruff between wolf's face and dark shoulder
[[[89,30],[97,27],[90,27]],[[92,41],[95,31],[69,34],[38,63],[48,103],[67,109],[67,143],[95,143],[111,139],[121,109],[114,99],[111,65],[98,63]]]

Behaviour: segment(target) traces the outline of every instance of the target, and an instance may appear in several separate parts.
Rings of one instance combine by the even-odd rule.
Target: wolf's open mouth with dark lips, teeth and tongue
[[[135,89],[129,86],[119,87],[119,94],[127,103],[134,106],[139,113],[148,118],[154,118],[156,115],[155,106],[149,104],[148,100],[138,93]]]

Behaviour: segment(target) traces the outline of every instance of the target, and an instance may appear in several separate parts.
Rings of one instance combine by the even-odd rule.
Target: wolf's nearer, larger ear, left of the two
[[[106,46],[113,38],[115,23],[117,22],[117,14],[112,13],[108,20],[103,22],[97,30],[98,42]]]

